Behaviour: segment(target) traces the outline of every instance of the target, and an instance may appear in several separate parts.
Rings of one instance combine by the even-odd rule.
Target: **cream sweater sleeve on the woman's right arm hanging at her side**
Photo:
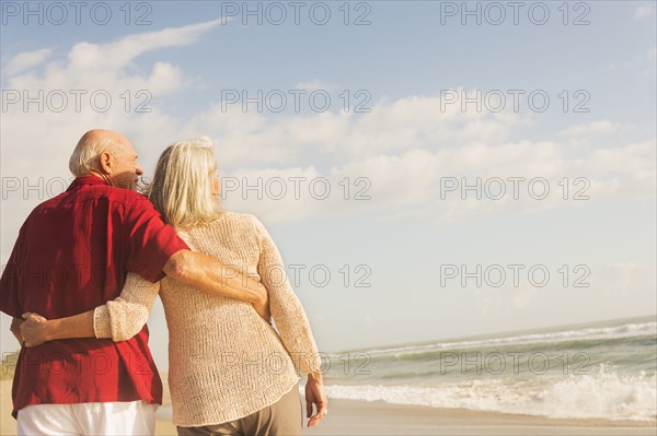
[[[265,226],[253,217],[260,241],[257,272],[269,293],[269,308],[283,344],[306,374],[320,369],[322,364],[310,323],[301,302],[285,273],[280,252]]]

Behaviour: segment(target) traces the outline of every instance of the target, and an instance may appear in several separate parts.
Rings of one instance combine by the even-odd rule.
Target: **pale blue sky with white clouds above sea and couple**
[[[1,3],[2,263],[70,177],[79,137],[104,127],[147,174],[177,139],[216,141],[226,207],[255,213],[300,272],[323,350],[656,311],[654,2],[523,2],[518,24],[507,2],[469,2],[481,24],[462,2],[301,2],[298,25],[289,2],[251,2],[262,24],[242,2],[131,2],[129,17],[125,2],[88,2],[79,24],[66,2],[66,21]],[[262,110],[243,110],[258,91]],[[481,199],[462,190],[477,178]],[[165,362],[161,308],[150,326]]]

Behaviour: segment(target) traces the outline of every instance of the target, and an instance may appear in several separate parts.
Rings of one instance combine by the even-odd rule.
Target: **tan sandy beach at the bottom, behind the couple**
[[[165,390],[164,405],[171,404]],[[551,420],[540,416],[434,409],[413,405],[331,400],[328,416],[307,435],[654,435],[655,423],[604,420]],[[2,380],[0,435],[16,434],[11,416],[11,380]],[[161,415],[162,413],[160,413]],[[168,419],[159,419],[157,435],[176,435]]]

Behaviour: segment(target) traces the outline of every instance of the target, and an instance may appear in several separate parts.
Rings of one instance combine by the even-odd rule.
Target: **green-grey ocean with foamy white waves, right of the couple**
[[[330,399],[657,421],[655,317],[323,358]]]

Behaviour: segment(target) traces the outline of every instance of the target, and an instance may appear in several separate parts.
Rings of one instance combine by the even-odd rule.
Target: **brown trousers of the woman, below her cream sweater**
[[[303,410],[297,385],[274,404],[217,425],[177,427],[178,436],[300,436]]]

